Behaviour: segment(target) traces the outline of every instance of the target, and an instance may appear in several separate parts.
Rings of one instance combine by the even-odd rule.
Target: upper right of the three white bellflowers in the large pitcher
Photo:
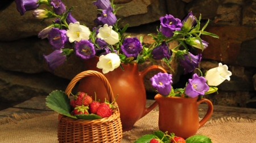
[[[109,45],[114,45],[119,41],[118,33],[113,31],[112,26],[108,26],[108,24],[104,24],[103,27],[98,29],[97,38],[104,40]]]

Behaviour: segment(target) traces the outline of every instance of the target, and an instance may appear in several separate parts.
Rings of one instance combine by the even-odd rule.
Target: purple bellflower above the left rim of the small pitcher
[[[172,75],[159,72],[150,79],[151,84],[162,96],[168,96],[171,92]]]

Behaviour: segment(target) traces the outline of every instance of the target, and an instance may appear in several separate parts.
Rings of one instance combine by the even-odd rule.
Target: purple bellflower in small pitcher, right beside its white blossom
[[[188,84],[185,87],[185,94],[189,97],[195,98],[197,96],[204,96],[204,92],[209,90],[209,86],[206,83],[206,79],[203,76],[198,76],[196,73],[192,76],[192,79],[188,79]]]

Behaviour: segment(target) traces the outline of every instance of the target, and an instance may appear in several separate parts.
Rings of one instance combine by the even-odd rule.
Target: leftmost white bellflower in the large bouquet
[[[76,21],[75,23],[69,23],[66,34],[69,37],[69,42],[80,42],[82,39],[89,40],[90,29]]]

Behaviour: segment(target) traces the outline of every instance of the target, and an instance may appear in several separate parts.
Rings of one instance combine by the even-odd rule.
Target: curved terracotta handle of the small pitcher
[[[210,100],[207,98],[202,98],[199,101],[197,101],[197,106],[199,106],[200,103],[203,103],[203,102],[207,103],[208,110],[207,110],[207,114],[205,114],[204,118],[200,120],[199,128],[201,128],[210,119],[210,116],[212,116],[212,112],[213,112],[212,102],[210,102]]]

